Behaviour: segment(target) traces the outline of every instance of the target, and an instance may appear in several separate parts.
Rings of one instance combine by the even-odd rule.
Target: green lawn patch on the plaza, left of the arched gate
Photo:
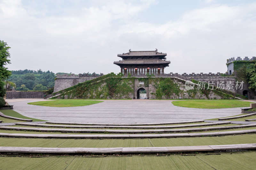
[[[76,106],[87,106],[91,104],[101,103],[103,101],[96,100],[52,100],[52,101],[42,101],[42,102],[32,102],[28,103],[37,106],[50,106],[50,107],[76,107]]]

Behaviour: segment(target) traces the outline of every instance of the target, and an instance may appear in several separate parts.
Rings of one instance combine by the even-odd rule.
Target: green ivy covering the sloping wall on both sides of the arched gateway
[[[205,83],[204,89],[194,87],[194,89],[186,90],[185,81],[176,78],[164,77],[122,77],[123,74],[107,74],[90,81],[78,83],[76,86],[61,90],[53,94],[60,94],[57,98],[68,99],[130,99],[133,98],[134,81],[143,81],[145,87],[152,85],[155,89],[149,93],[155,96],[156,99],[214,99],[215,97],[221,99],[235,99],[235,97],[243,98],[228,90],[223,89],[209,89],[208,84]],[[193,80],[195,84],[198,81]],[[209,96],[211,94],[211,96]],[[235,97],[234,97],[235,96]],[[54,97],[53,97],[54,98]]]

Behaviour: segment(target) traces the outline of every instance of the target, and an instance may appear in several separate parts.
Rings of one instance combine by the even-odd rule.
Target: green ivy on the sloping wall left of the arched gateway
[[[133,96],[134,78],[121,78],[123,74],[104,76],[78,83],[76,86],[61,90],[58,98],[78,99],[129,99]],[[53,97],[54,98],[54,97]]]

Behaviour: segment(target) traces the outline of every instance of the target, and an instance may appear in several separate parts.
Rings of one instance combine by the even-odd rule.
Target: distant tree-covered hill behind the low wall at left
[[[17,70],[12,71],[8,81],[16,83],[16,90],[47,90],[46,87],[54,87],[53,72],[39,70]]]

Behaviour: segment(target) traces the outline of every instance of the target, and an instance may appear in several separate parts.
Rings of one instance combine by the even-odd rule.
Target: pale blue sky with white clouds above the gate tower
[[[256,56],[252,0],[0,0],[9,70],[119,73],[117,54],[167,53],[165,73],[225,73]]]

